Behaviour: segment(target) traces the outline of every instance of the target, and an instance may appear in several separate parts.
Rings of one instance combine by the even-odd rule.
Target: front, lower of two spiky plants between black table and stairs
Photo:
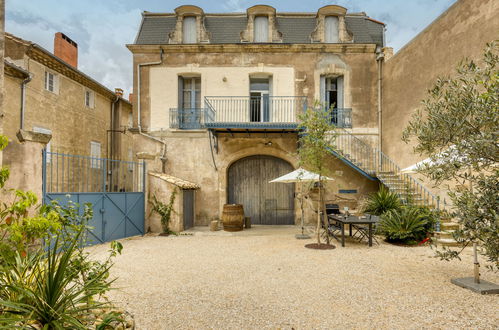
[[[391,241],[421,240],[427,235],[428,217],[418,207],[402,207],[381,216],[380,231]]]

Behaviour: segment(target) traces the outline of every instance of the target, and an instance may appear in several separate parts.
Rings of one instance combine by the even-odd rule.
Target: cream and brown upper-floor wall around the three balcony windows
[[[137,90],[137,65],[158,60],[158,53],[134,51],[134,90]],[[274,77],[274,96],[306,96],[309,104],[320,99],[321,75],[344,75],[344,107],[353,109],[353,127],[376,139],[377,64],[374,51],[167,52],[162,65],[141,69],[141,126],[144,130],[169,127],[168,110],[178,106],[177,76],[184,73],[201,76],[202,97],[249,95],[249,75],[266,73]]]

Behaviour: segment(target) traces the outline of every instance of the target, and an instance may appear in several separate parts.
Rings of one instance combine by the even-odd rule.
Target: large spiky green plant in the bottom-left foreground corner
[[[40,250],[29,259],[18,254],[15,264],[8,265],[10,271],[0,276],[0,325],[37,323],[43,329],[85,329],[86,316],[109,305],[92,298],[109,290],[111,264],[85,281],[71,267],[83,230],[67,244],[61,245],[57,238],[46,252]]]

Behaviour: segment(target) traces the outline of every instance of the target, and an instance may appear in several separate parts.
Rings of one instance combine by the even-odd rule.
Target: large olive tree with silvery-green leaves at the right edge
[[[439,78],[403,132],[415,152],[430,155],[419,172],[445,184],[454,237],[474,244],[499,269],[499,44],[487,44],[479,61],[464,59],[453,77]],[[447,184],[452,182],[452,185]],[[461,250],[462,251],[462,250]],[[445,248],[443,259],[459,258]],[[475,264],[478,263],[475,261]],[[476,270],[478,266],[476,267]],[[478,271],[476,271],[478,275]]]

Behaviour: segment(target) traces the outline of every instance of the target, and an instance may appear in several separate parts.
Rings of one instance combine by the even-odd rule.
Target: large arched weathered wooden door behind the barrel
[[[295,185],[269,183],[291,171],[293,167],[277,157],[242,158],[228,170],[228,202],[242,204],[253,224],[293,225]]]

